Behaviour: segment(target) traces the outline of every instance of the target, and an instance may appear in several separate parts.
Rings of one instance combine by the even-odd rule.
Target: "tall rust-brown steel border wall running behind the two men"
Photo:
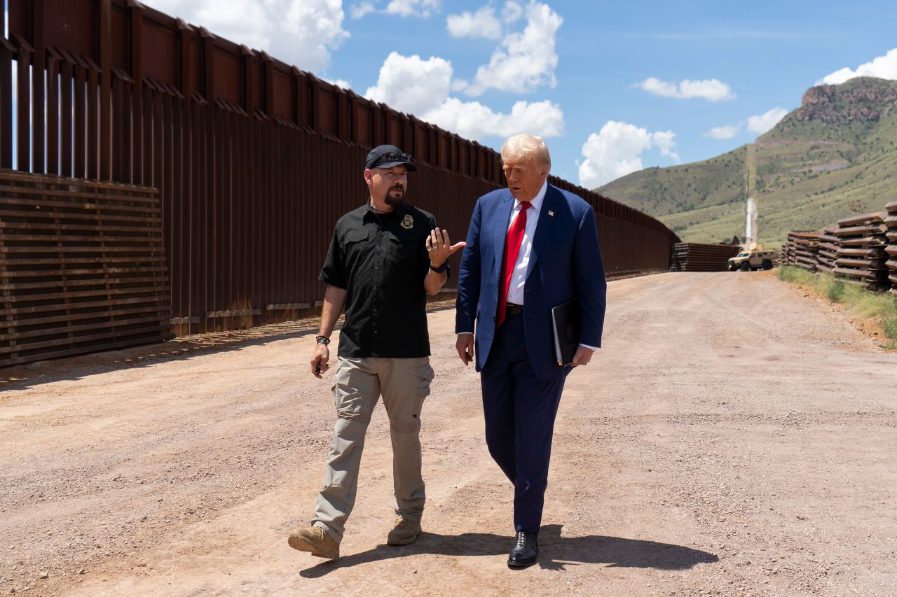
[[[157,189],[177,333],[310,315],[373,145],[414,156],[409,201],[455,239],[503,185],[479,143],[131,0],[10,0],[9,31],[0,168]],[[552,182],[595,207],[608,275],[668,269],[665,225]]]

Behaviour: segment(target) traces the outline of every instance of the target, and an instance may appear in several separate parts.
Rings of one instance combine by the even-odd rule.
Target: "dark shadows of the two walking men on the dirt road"
[[[700,549],[681,545],[587,535],[562,537],[561,524],[549,524],[539,532],[539,559],[536,566],[563,570],[579,564],[606,564],[610,567],[657,568],[685,570],[695,564],[712,564],[718,558]],[[319,578],[342,567],[388,558],[404,558],[418,553],[442,556],[497,556],[507,554],[514,538],[487,532],[465,532],[460,535],[438,535],[423,532],[412,545],[391,547],[378,545],[374,549],[351,556],[327,560],[306,568],[300,575]]]

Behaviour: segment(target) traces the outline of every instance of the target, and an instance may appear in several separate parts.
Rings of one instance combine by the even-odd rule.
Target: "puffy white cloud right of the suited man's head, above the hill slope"
[[[641,126],[608,120],[582,145],[586,160],[579,163],[579,185],[595,188],[642,169],[641,153],[649,149],[659,149],[678,162],[674,139],[672,131],[651,133]]]

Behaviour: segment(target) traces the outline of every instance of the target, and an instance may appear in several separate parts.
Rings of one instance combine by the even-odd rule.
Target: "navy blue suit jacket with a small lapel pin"
[[[477,371],[489,358],[495,336],[499,278],[513,207],[514,197],[507,188],[479,198],[458,270],[455,331],[475,331]],[[548,381],[570,370],[558,367],[554,358],[552,307],[578,297],[579,342],[601,346],[606,290],[595,211],[579,196],[549,185],[533,236],[524,290],[527,353],[536,376]]]

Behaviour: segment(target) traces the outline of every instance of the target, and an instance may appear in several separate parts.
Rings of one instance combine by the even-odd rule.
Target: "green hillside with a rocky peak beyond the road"
[[[759,240],[820,229],[897,198],[897,82],[858,77],[820,85],[756,142],[710,160],[650,168],[596,191],[649,213],[681,238],[718,242],[745,231],[745,182]],[[749,155],[750,154],[750,155]]]

